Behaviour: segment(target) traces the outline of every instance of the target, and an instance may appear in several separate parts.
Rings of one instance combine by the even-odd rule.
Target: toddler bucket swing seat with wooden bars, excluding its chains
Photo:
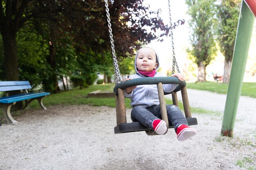
[[[182,93],[182,101],[184,106],[184,112],[186,120],[191,125],[197,125],[197,119],[191,117],[191,112],[189,108],[189,100],[186,92],[186,81],[181,82],[177,77],[141,77],[137,79],[130,79],[125,82],[117,84],[114,88],[114,93],[116,95],[116,113],[117,113],[117,126],[114,128],[115,134],[127,133],[127,132],[139,132],[145,131],[147,135],[157,135],[154,130],[147,128],[140,124],[138,121],[127,123],[126,121],[126,108],[124,102],[124,89],[131,86],[145,85],[145,84],[157,84],[157,90],[159,95],[160,108],[162,110],[162,117],[166,121],[166,126],[168,128],[173,128],[172,125],[168,125],[168,118],[166,113],[166,104],[164,101],[164,95],[172,94],[173,104],[178,106],[177,91]],[[164,93],[162,84],[177,84],[175,90],[171,93]]]

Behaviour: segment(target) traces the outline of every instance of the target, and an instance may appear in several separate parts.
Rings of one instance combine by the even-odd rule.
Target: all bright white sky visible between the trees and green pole
[[[160,17],[163,19],[165,24],[169,24],[169,9],[168,9],[168,0],[144,0],[145,3],[150,5],[150,10],[156,11],[161,9],[162,12]],[[189,41],[189,18],[190,16],[186,14],[187,5],[185,0],[170,0],[171,3],[171,18],[172,23],[177,22],[177,20],[184,19],[185,24],[179,25],[176,29],[173,30],[174,38],[174,47],[175,47],[175,57],[180,68],[180,71],[183,72],[185,67],[191,66],[192,61],[187,58],[186,49],[190,46]],[[254,65],[256,66],[256,22],[254,22],[254,31],[252,34],[252,42],[249,48],[249,55],[247,58],[246,74],[244,81],[245,82],[256,82],[256,76],[253,79],[250,78],[250,73],[247,73]],[[254,39],[254,40],[253,40]],[[163,73],[171,71],[172,68],[172,47],[171,47],[171,37],[164,38],[164,42],[157,42],[157,40],[151,42],[147,46],[155,49],[159,55],[160,67]],[[211,81],[212,74],[218,73],[223,75],[224,72],[224,56],[218,51],[218,56],[211,62],[206,68],[207,79]],[[196,65],[194,65],[196,67]],[[256,69],[256,68],[255,68]],[[197,70],[195,70],[195,74]],[[246,77],[249,76],[249,79]]]

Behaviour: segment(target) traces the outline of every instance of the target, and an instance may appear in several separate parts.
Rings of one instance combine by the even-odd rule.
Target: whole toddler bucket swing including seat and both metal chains
[[[170,21],[171,21],[171,9],[170,3],[169,4],[169,13],[170,13]],[[131,79],[125,82],[122,82],[121,75],[119,72],[118,64],[117,64],[117,57],[115,55],[115,46],[113,41],[111,23],[110,23],[110,14],[108,8],[108,0],[105,0],[105,7],[107,12],[108,18],[108,28],[110,33],[110,43],[112,48],[112,55],[113,55],[113,64],[115,70],[115,79],[116,79],[116,86],[114,88],[115,99],[116,99],[116,116],[117,116],[117,126],[115,127],[115,133],[125,133],[125,132],[136,132],[136,131],[145,131],[147,135],[156,135],[153,130],[148,130],[145,126],[141,125],[139,122],[132,122],[128,123],[126,121],[126,108],[125,108],[125,101],[124,101],[124,89],[137,86],[137,85],[146,85],[146,84],[157,84],[157,91],[159,96],[159,103],[161,109],[162,119],[166,122],[166,128],[171,128],[168,126],[168,117],[166,112],[166,104],[164,101],[164,93],[163,84],[177,84],[177,88],[171,93],[173,97],[173,104],[178,106],[178,99],[177,99],[177,91],[180,89],[182,94],[182,102],[184,106],[185,117],[189,121],[189,125],[197,124],[196,118],[191,118],[191,112],[189,108],[189,100],[186,93],[186,82],[180,82],[177,77],[142,77],[137,79]],[[172,22],[171,22],[172,25]],[[173,47],[173,68],[176,65],[178,73],[180,73],[179,68],[177,66],[177,62],[175,59],[175,51],[174,51],[174,43],[173,43],[173,27],[171,26],[171,37],[172,37],[172,47]],[[174,69],[173,69],[174,73]],[[168,93],[167,93],[168,94]],[[189,118],[189,119],[188,119]]]

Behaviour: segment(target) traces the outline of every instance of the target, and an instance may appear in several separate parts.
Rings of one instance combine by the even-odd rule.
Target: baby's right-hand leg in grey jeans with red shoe
[[[184,141],[196,135],[196,130],[188,126],[188,122],[180,108],[175,105],[166,105],[166,110],[168,121],[173,125],[179,141]]]

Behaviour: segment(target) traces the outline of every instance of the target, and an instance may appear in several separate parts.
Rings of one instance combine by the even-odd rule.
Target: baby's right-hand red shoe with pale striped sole
[[[185,141],[186,139],[189,139],[195,136],[196,130],[182,124],[177,128],[176,133],[177,133],[177,139],[179,141]]]

